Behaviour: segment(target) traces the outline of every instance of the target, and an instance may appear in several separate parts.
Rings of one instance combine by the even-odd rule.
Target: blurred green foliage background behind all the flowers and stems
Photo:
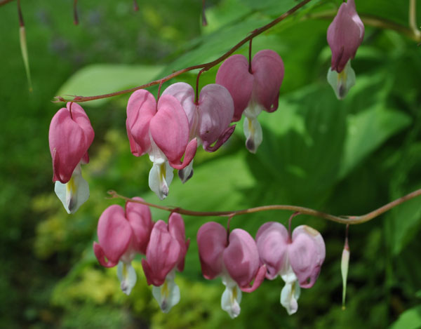
[[[105,199],[109,189],[192,210],[294,204],[361,215],[420,188],[421,48],[415,41],[366,26],[352,62],[356,86],[340,102],[326,81],[330,20],[312,16],[335,11],[341,1],[313,0],[253,41],[253,53],[277,51],[286,72],[278,111],[260,115],[264,140],[258,153],[246,151],[240,122],[225,147],[215,154],[198,152],[192,180],[182,185],[175,178],[164,202],[147,187],[147,156],[130,153],[128,95],[81,104],[95,130],[91,163],[82,168],[91,198],[67,215],[51,182],[48,126],[62,107],[51,102],[55,95],[112,92],[214,60],[297,3],[207,1],[209,24],[201,27],[201,1],[138,0],[138,12],[131,0],[79,1],[79,26],[72,23],[72,2],[21,1],[33,93],[20,55],[15,1],[0,8],[1,328],[421,327],[420,199],[350,228],[345,311],[340,277],[345,227],[317,218],[301,215],[293,221],[318,229],[326,241],[319,279],[302,290],[293,316],[279,304],[280,278],[243,294],[238,318],[220,309],[224,288],[219,279],[201,276],[195,239],[200,225],[216,218],[185,216],[191,244],[185,271],[176,277],[182,298],[169,314],[153,300],[140,257],[134,262],[138,283],[126,297],[116,269],[100,267],[92,250],[102,211],[112,203],[123,205]],[[356,0],[356,6],[360,14],[408,25],[408,1]],[[215,81],[217,69],[201,76],[201,86]],[[193,84],[195,74],[170,82]],[[152,212],[154,220],[168,218]],[[243,215],[234,217],[232,227],[255,236],[264,222],[285,224],[289,215]]]

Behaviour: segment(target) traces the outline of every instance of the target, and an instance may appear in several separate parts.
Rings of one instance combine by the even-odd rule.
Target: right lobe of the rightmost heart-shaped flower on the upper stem
[[[283,81],[283,61],[278,53],[259,51],[251,62],[254,76],[253,94],[267,112],[278,108],[279,88]]]

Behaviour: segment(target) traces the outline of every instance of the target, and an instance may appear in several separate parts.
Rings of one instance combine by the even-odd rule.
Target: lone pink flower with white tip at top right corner
[[[356,13],[354,0],[340,5],[338,14],[328,27],[328,43],[332,51],[332,64],[328,70],[328,82],[335,95],[342,100],[355,84],[355,72],[351,60],[363,42],[364,25]]]

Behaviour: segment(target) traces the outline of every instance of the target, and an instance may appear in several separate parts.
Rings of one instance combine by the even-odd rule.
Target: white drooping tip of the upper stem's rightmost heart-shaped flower
[[[258,121],[258,116],[262,112],[262,105],[255,101],[255,98],[251,98],[248,103],[248,107],[244,110],[244,121],[243,130],[246,135],[246,147],[251,153],[256,153],[258,147],[262,144],[263,134],[262,126]]]

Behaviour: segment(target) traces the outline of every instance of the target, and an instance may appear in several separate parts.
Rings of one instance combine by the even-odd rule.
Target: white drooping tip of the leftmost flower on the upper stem
[[[82,177],[80,163],[74,168],[69,182],[55,182],[54,192],[69,214],[75,213],[89,199],[89,185]]]

